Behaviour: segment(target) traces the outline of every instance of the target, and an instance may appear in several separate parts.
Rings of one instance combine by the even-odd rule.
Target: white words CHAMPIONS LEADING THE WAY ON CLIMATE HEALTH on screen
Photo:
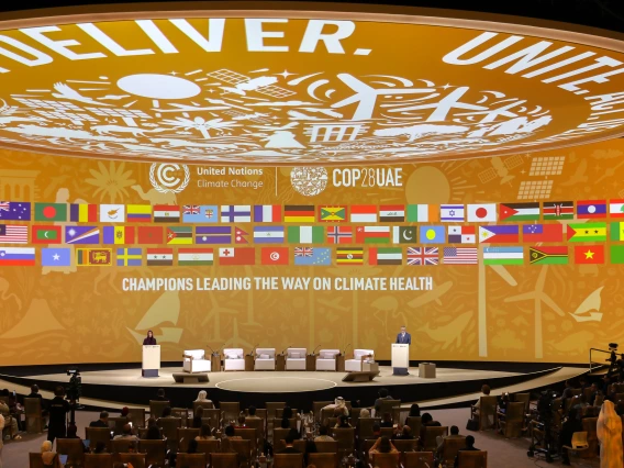
[[[431,291],[433,278],[377,277],[241,277],[241,278],[123,278],[124,291]]]

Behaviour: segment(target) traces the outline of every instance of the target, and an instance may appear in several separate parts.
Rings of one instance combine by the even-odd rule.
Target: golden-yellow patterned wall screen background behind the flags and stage
[[[4,151],[0,199],[179,205],[609,200],[624,198],[623,156],[624,142],[616,140],[508,157],[392,166],[402,169],[402,187],[336,188],[334,168],[327,168],[326,189],[304,197],[293,190],[291,169],[286,167],[265,167],[261,176],[200,177],[198,168],[208,166],[191,166],[191,180],[182,192],[160,193],[149,182],[148,164]],[[544,165],[547,169],[539,169]],[[208,189],[198,187],[200,179],[263,181],[263,186]],[[253,232],[252,223],[231,225]],[[254,246],[253,235],[249,237]],[[164,360],[179,360],[183,349],[210,345],[248,350],[256,343],[278,350],[288,345],[342,348],[350,343],[389,359],[390,343],[402,324],[412,333],[412,359],[586,363],[589,347],[624,339],[623,266],[610,265],[608,256],[605,265],[575,265],[571,246],[579,244],[569,244],[569,265],[528,265],[526,248],[532,244],[522,245],[522,266],[483,266],[480,261],[427,267],[222,267],[215,259],[214,266],[205,267],[54,268],[42,267],[38,260],[35,267],[3,267],[0,358],[11,365],[140,361],[140,344],[148,328],[163,345]],[[443,245],[439,247],[442,250]],[[434,289],[121,289],[123,278],[257,276],[432,276]]]

